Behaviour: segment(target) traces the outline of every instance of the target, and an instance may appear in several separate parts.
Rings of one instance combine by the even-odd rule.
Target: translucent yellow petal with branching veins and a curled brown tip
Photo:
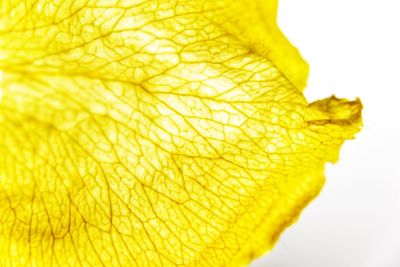
[[[0,266],[240,266],[361,126],[276,0],[0,2]]]

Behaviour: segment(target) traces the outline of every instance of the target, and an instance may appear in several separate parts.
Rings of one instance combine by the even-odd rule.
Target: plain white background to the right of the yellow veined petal
[[[279,25],[311,67],[309,101],[363,105],[364,128],[327,165],[320,196],[251,266],[400,266],[400,1],[280,0]]]

